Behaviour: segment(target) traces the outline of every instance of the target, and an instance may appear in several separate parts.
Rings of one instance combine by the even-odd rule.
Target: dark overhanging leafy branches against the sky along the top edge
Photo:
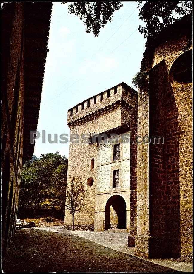
[[[67,2],[63,2],[65,4]],[[182,16],[192,13],[190,1],[138,1],[139,18],[146,23],[138,30],[144,38],[155,36]],[[121,2],[72,2],[68,5],[69,13],[77,15],[86,25],[86,32],[99,35],[100,28],[112,21],[112,15],[122,7]]]

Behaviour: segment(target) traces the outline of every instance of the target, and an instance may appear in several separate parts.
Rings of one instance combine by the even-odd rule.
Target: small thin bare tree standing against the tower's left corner
[[[69,176],[67,184],[65,207],[72,214],[72,231],[74,231],[74,214],[80,212],[84,205],[84,193],[86,192],[84,182],[76,176]]]

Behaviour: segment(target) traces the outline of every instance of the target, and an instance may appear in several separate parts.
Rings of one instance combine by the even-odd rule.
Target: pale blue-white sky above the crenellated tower
[[[70,135],[67,110],[118,83],[132,86],[146,42],[137,30],[143,24],[138,13],[137,2],[123,2],[95,37],[67,4],[53,3],[34,155],[58,151],[68,158],[69,143],[59,143],[60,134]],[[57,143],[49,143],[48,134],[51,140],[57,134]]]

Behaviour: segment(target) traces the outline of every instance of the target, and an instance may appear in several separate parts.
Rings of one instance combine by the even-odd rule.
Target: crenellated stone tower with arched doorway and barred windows
[[[87,188],[84,208],[74,217],[76,228],[124,229],[135,235],[137,92],[120,83],[70,109],[67,123],[71,130],[68,177],[81,178]],[[73,134],[80,138],[77,143],[72,142]],[[82,134],[88,134],[85,140]],[[64,227],[71,224],[66,210]]]

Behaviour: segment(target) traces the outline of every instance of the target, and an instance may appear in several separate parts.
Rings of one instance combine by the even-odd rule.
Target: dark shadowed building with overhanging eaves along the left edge
[[[22,162],[33,155],[52,4],[12,2],[2,7],[2,250],[13,238]]]

